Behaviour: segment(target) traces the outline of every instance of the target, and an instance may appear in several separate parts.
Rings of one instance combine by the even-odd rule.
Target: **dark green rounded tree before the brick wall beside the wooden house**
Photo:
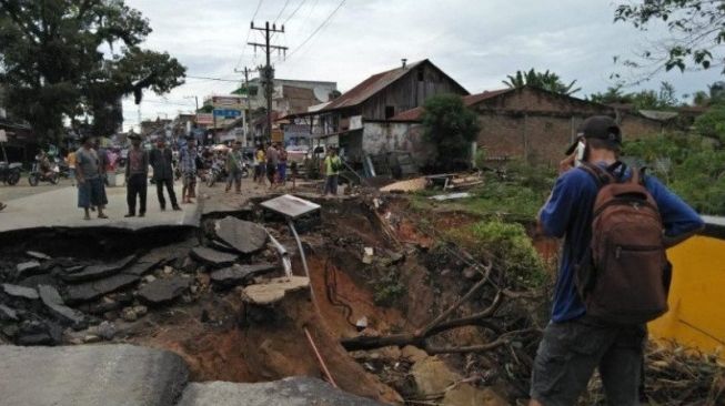
[[[435,162],[441,170],[469,166],[471,143],[479,134],[479,118],[456,94],[439,94],[423,106],[424,138],[435,146]]]

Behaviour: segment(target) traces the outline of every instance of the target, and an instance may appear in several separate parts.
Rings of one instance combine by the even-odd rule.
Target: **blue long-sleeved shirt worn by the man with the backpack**
[[[630,179],[631,171],[620,171],[615,175],[620,181],[625,181]],[[675,237],[703,226],[699,215],[656,177],[647,175],[645,186],[657,202],[665,235]],[[544,234],[566,237],[554,288],[553,322],[565,322],[586,313],[574,285],[574,265],[582,261],[592,240],[597,192],[597,184],[588,172],[583,169],[570,170],[556,180],[551,197],[541,210]]]

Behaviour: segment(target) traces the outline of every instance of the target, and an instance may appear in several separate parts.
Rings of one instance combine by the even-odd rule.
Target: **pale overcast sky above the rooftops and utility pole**
[[[187,67],[188,77],[240,79],[234,69],[264,62],[249,41],[263,42],[249,23],[259,0],[127,0],[150,21],[153,32],[143,47],[167,51]],[[577,97],[613,84],[614,55],[631,55],[645,40],[664,38],[664,30],[642,33],[613,23],[611,0],[262,0],[254,21],[285,22],[273,43],[290,47],[286,60],[275,58],[276,77],[338,82],[342,92],[376,72],[396,68],[401,58],[430,59],[471,93],[502,88],[516,70],[550,69],[564,81],[576,80]],[[296,12],[295,12],[296,10]],[[294,12],[294,14],[293,14]],[[706,89],[718,70],[669,72],[663,80],[677,94]],[[164,97],[152,92],[141,103],[143,120],[173,118],[194,109],[197,95],[228,94],[235,83],[188,78]],[[124,129],[138,125],[138,106],[125,100]]]

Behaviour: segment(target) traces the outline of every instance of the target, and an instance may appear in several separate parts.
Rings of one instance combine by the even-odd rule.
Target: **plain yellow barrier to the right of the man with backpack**
[[[669,312],[650,323],[650,334],[725,359],[725,237],[698,235],[667,256],[674,265]]]

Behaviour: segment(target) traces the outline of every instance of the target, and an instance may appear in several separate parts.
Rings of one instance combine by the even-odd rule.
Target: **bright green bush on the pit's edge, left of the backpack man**
[[[540,287],[547,281],[544,262],[518,223],[479,222],[450,231],[449,237],[472,255],[501,267],[510,276],[508,285]]]

